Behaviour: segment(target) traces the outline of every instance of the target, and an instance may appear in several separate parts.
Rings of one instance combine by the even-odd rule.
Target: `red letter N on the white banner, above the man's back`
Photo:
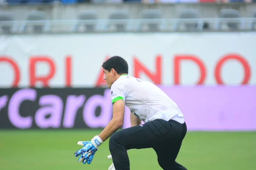
[[[162,71],[161,71],[161,62],[162,62],[162,57],[157,56],[156,57],[156,72],[151,73],[148,68],[146,68],[138,59],[134,58],[134,77],[140,78],[140,73],[144,72],[148,78],[152,80],[155,84],[161,84],[161,76],[162,76]]]

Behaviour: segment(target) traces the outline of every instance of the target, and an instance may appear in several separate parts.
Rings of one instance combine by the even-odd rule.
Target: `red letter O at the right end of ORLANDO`
[[[243,84],[243,85],[248,84],[249,79],[250,79],[250,66],[249,66],[248,62],[238,54],[228,54],[227,56],[222,57],[218,61],[217,65],[215,67],[216,82],[219,85],[224,84],[223,80],[221,79],[221,67],[224,64],[224,62],[226,62],[229,59],[236,59],[237,61],[239,61],[243,65],[243,67],[244,67],[244,80],[241,84]]]

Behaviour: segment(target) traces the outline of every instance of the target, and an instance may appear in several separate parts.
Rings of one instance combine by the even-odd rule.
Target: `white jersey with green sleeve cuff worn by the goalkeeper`
[[[124,100],[131,113],[145,123],[154,119],[174,119],[184,123],[184,116],[177,104],[160,88],[127,74],[120,76],[111,86],[111,99],[112,103]]]

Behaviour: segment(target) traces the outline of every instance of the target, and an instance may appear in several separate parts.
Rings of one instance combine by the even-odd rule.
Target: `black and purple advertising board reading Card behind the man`
[[[256,130],[256,87],[161,87],[188,130]],[[103,128],[112,117],[109,89],[0,89],[0,128]],[[123,128],[130,127],[125,108]]]

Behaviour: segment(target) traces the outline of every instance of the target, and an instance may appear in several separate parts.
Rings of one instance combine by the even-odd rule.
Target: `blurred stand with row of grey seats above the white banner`
[[[1,34],[256,30],[252,0],[0,2]]]

